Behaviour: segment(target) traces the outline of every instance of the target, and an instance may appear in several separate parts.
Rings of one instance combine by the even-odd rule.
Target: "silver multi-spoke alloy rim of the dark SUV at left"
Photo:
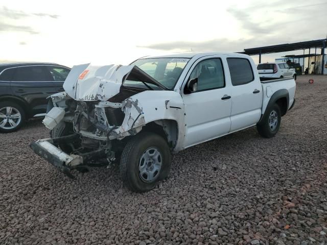
[[[20,124],[20,121],[21,115],[16,108],[7,106],[0,109],[0,128],[14,129]]]

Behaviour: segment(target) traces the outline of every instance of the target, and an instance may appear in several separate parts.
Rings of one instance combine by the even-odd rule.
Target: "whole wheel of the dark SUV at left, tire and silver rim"
[[[18,130],[25,123],[25,111],[14,102],[0,102],[0,132]]]

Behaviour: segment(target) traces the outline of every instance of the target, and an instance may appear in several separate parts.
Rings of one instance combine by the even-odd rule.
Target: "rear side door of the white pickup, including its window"
[[[246,58],[227,58],[232,84],[230,132],[255,125],[261,116],[263,91],[251,62]]]

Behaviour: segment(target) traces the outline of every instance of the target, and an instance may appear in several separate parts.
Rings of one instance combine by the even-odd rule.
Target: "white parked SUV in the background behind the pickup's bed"
[[[260,78],[287,78],[296,80],[296,71],[285,62],[261,63],[257,67]]]

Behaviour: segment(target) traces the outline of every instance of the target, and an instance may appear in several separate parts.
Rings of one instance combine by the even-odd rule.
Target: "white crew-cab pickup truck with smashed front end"
[[[51,95],[43,124],[51,138],[31,143],[68,177],[72,169],[120,158],[124,184],[148,191],[166,178],[171,154],[256,125],[274,136],[293,106],[293,78],[260,81],[243,54],[145,57],[127,66],[74,66]]]

